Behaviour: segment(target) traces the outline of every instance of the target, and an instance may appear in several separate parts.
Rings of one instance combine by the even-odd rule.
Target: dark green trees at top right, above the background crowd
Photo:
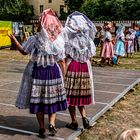
[[[92,20],[139,20],[140,0],[84,0],[81,12]]]

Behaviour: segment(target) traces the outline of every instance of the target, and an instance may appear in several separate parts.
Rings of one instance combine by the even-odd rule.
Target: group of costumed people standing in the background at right
[[[100,47],[100,66],[105,64],[120,64],[120,57],[132,57],[134,52],[140,50],[140,25],[135,24],[133,28],[126,28],[123,24],[116,27],[112,33],[113,24],[104,23],[98,28],[94,40],[96,47]]]

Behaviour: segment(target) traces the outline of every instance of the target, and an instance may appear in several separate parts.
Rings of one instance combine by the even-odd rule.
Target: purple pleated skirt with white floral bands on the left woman
[[[67,109],[66,91],[57,64],[43,68],[35,63],[32,80],[30,113],[52,114]]]

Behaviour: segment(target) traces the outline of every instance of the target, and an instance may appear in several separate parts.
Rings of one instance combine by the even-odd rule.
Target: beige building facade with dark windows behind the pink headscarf
[[[61,11],[66,11],[64,0],[26,0],[29,5],[33,7],[33,12],[36,17],[42,13],[43,10],[51,8],[56,12],[58,17]]]

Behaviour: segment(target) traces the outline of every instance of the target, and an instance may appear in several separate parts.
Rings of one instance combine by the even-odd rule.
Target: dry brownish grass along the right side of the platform
[[[98,61],[100,49],[94,60]],[[98,66],[92,63],[93,66]],[[110,66],[105,66],[110,67]],[[113,68],[140,70],[140,52],[133,54],[132,58],[122,57],[120,65]],[[113,108],[100,117],[92,129],[84,131],[80,140],[116,140],[117,135],[127,128],[140,128],[140,84],[134,91],[128,92],[123,99],[117,102]]]

